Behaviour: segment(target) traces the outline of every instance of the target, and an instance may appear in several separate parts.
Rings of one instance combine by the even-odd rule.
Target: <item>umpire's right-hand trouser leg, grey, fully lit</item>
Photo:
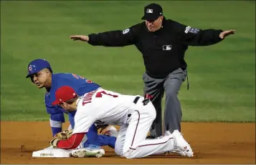
[[[166,94],[166,103],[163,117],[163,131],[170,131],[171,133],[176,129],[181,131],[182,112],[178,93],[185,79],[186,71],[176,69],[164,81],[163,86]]]

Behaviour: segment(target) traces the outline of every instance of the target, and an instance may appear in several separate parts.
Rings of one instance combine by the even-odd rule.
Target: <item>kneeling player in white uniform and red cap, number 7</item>
[[[120,125],[115,142],[115,154],[127,159],[141,158],[151,154],[175,151],[183,156],[193,156],[193,151],[178,130],[166,131],[157,139],[146,139],[156,109],[142,96],[118,94],[98,89],[84,96],[77,96],[70,86],[57,89],[56,101],[66,111],[77,109],[75,128],[70,139],[52,139],[50,144],[60,149],[75,149],[93,123]],[[85,156],[85,150],[72,151],[76,157]]]

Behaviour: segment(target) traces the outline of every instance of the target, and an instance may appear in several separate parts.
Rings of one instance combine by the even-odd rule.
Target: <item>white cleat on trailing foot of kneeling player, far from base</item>
[[[174,150],[171,152],[176,152],[182,156],[193,157],[194,153],[191,146],[188,144],[188,142],[186,142],[181,133],[178,130],[175,130],[172,135],[174,137]]]

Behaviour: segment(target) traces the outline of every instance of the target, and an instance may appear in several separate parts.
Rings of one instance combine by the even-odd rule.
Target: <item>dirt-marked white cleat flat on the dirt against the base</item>
[[[85,157],[97,157],[100,158],[101,156],[105,155],[104,149],[74,149],[71,152],[71,155],[76,158],[85,158]]]

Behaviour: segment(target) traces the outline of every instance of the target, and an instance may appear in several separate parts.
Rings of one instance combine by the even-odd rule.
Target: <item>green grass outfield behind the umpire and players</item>
[[[54,72],[80,74],[105,89],[143,94],[135,46],[106,48],[69,39],[127,29],[151,1],[1,1],[1,120],[48,120],[44,89],[25,79],[27,64],[47,59]],[[167,18],[201,29],[235,29],[213,46],[190,47],[184,121],[255,122],[255,2],[158,1]],[[133,6],[132,6],[133,5]],[[163,100],[164,104],[164,100]]]

